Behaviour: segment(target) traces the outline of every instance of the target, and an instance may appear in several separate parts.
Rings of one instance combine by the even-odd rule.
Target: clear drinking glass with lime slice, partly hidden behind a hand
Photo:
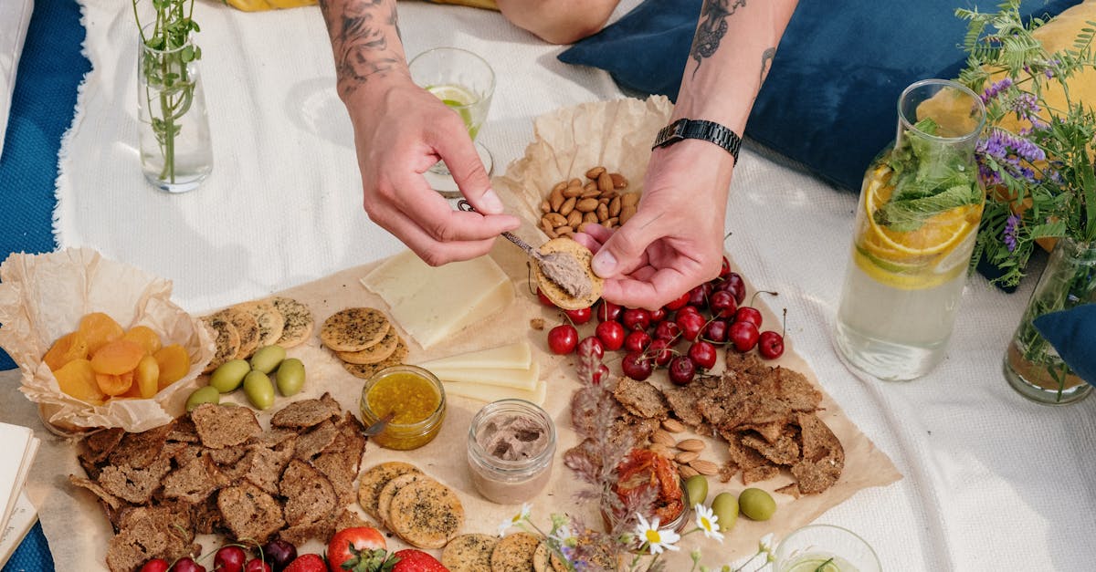
[[[494,94],[494,70],[490,64],[466,49],[439,47],[415,56],[408,64],[408,70],[416,85],[433,93],[460,116],[468,136],[476,141]],[[480,142],[476,142],[476,151],[490,176],[493,167],[491,152]],[[425,175],[431,186],[443,196],[460,197],[444,161],[431,167]]]

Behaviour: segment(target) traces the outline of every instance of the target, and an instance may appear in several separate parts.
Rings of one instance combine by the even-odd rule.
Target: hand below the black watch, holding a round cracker
[[[716,277],[732,169],[727,151],[707,141],[655,150],[636,215],[616,231],[589,225],[574,236],[595,252],[602,297],[654,309]]]

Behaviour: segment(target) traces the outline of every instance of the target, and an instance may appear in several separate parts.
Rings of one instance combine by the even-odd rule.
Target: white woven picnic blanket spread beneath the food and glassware
[[[198,2],[216,163],[199,190],[172,196],[148,186],[138,165],[128,2],[83,3],[94,69],[62,150],[60,247],[92,247],[170,278],[175,300],[196,312],[401,250],[361,207],[351,128],[318,9],[244,14]],[[614,18],[638,3],[625,0]],[[399,8],[409,55],[453,45],[494,66],[498,90],[480,137],[499,170],[523,155],[535,116],[623,95],[606,73],[560,64],[561,48],[498,13]],[[854,208],[850,194],[747,145],[727,216],[735,263],[757,287],[779,293],[773,308],[788,308],[789,343],[905,476],[858,493],[820,522],[859,533],[887,570],[1091,570],[1096,399],[1031,404],[1001,374],[1034,281],[1009,296],[971,278],[948,358],[932,375],[906,384],[860,380],[831,345]],[[4,417],[25,417],[28,409],[0,404]],[[31,493],[58,569],[84,570],[89,562],[67,560],[59,549],[72,515],[47,462],[60,445],[44,445],[50,447]]]

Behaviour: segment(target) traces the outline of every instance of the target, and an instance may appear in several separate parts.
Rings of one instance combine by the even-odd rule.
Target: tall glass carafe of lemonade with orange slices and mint
[[[864,178],[835,332],[850,365],[890,380],[944,358],[985,199],[974,161],[982,100],[924,80],[898,112],[894,145]]]

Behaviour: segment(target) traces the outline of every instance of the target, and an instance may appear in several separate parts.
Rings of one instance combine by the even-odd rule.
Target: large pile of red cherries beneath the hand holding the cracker
[[[539,290],[537,295],[543,305],[556,307]],[[730,345],[743,353],[756,347],[766,359],[784,354],[784,335],[761,331],[761,312],[753,306],[742,306],[745,296],[745,282],[731,272],[724,256],[718,277],[657,310],[623,308],[607,300],[598,300],[591,308],[562,310],[568,321],[548,331],[548,347],[559,355],[592,355],[598,362],[606,352],[623,351],[624,375],[642,381],[657,368],[665,367],[671,381],[688,385],[697,374],[716,366],[720,346]],[[580,339],[579,328],[595,317],[593,334]],[[602,364],[594,373],[594,381],[608,373]]]

